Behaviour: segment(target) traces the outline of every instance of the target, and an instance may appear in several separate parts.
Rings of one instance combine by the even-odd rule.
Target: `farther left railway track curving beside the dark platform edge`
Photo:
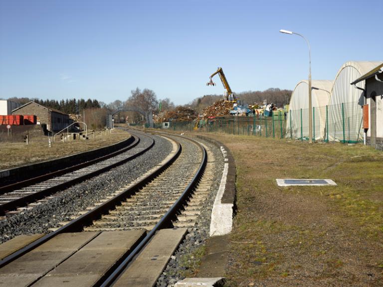
[[[0,187],[0,216],[12,216],[42,204],[52,199],[49,195],[132,160],[155,144],[154,139],[143,134],[134,138],[134,142],[127,147],[108,155],[21,183]],[[37,182],[38,180],[41,181]],[[28,185],[29,183],[31,184]]]

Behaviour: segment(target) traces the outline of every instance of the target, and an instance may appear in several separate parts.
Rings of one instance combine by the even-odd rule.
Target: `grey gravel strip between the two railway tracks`
[[[17,235],[49,233],[49,228],[60,227],[59,222],[70,221],[73,215],[92,206],[121,185],[139,177],[160,163],[172,150],[172,144],[159,136],[151,136],[156,143],[145,154],[102,173],[96,177],[57,192],[53,198],[34,208],[0,221],[0,242]],[[142,137],[142,142],[149,141]],[[135,147],[139,148],[139,147]]]

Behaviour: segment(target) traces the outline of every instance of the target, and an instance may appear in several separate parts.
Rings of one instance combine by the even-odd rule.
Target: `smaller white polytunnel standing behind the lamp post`
[[[313,139],[325,140],[326,115],[333,81],[312,80],[311,99],[313,108]],[[290,98],[286,117],[286,137],[309,138],[309,81],[300,81]]]

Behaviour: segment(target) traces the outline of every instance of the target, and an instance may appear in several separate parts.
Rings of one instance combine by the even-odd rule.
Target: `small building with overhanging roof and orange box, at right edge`
[[[365,143],[383,150],[383,64],[378,65],[368,73],[351,83],[356,85],[366,81],[364,132]],[[368,118],[368,119],[366,119]]]

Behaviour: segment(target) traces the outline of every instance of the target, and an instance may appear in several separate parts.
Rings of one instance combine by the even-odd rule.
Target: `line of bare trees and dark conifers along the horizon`
[[[267,103],[274,103],[277,107],[283,107],[284,104],[289,103],[292,91],[280,90],[278,88],[270,88],[265,91],[247,91],[235,94],[237,99],[240,99],[244,104],[263,104],[266,100]],[[197,113],[202,113],[202,110],[214,102],[223,99],[223,95],[204,95],[195,98],[189,104],[184,106],[192,108]],[[165,98],[162,100],[157,99],[157,95],[150,89],[136,88],[131,91],[131,95],[126,101],[116,100],[109,104],[99,102],[92,99],[66,99],[66,100],[41,100],[37,98],[9,98],[8,100],[18,102],[21,105],[33,101],[37,104],[47,108],[59,110],[66,114],[80,114],[81,117],[85,115],[85,122],[93,129],[99,129],[105,126],[106,116],[114,114],[118,111],[126,110],[129,107],[138,107],[143,111],[152,111],[154,114],[172,111],[176,107],[174,103]],[[142,123],[145,121],[143,115],[137,112],[120,112],[115,116],[118,122],[128,121],[130,123]],[[77,118],[76,118],[77,119]],[[82,118],[80,118],[83,120]]]

